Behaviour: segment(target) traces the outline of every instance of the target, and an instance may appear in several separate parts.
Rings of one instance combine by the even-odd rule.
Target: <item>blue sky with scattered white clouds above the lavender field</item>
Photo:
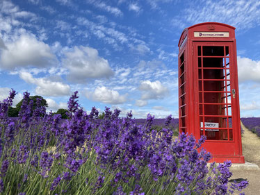
[[[179,37],[202,22],[236,27],[241,117],[260,117],[258,0],[0,0],[0,101],[177,118]]]

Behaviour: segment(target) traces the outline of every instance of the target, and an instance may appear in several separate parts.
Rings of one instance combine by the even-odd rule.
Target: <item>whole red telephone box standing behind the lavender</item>
[[[241,146],[235,28],[206,22],[179,40],[179,132],[206,135],[211,161],[245,163]]]

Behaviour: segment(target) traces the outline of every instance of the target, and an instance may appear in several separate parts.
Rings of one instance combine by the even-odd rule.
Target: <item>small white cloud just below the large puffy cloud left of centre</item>
[[[93,101],[110,104],[121,104],[127,101],[127,94],[120,95],[117,91],[110,90],[104,86],[97,87],[92,93],[87,92],[86,97]]]

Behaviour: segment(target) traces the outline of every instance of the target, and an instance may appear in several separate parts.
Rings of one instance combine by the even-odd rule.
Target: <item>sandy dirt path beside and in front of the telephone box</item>
[[[243,124],[241,124],[243,126]],[[250,130],[245,130],[242,135],[242,149],[246,162],[257,164],[260,167],[260,137]],[[236,170],[232,171],[231,179],[244,178],[249,181],[249,186],[243,191],[246,195],[260,195],[260,171]]]

